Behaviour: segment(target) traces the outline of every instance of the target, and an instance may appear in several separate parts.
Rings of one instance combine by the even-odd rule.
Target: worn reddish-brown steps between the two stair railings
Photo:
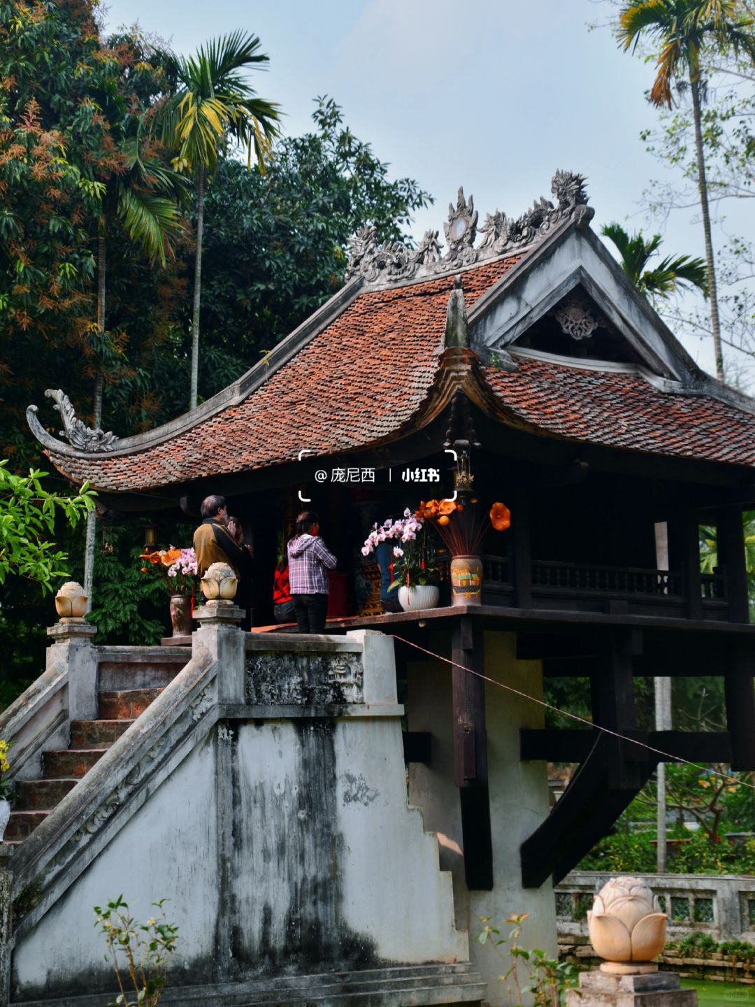
[[[67,748],[42,754],[38,779],[17,780],[3,842],[17,846],[102,758],[183,668],[188,648],[103,648],[98,665],[98,719],[70,722]]]

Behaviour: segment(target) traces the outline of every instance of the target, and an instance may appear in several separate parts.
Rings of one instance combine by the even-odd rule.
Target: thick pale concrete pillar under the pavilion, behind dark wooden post
[[[486,632],[484,674],[542,699],[540,662],[516,661],[514,645],[513,633]],[[440,638],[429,644],[430,650],[442,653],[439,646]],[[522,888],[519,868],[519,845],[549,812],[546,764],[519,759],[519,728],[543,727],[543,710],[490,683],[485,688],[485,706],[494,886],[489,892],[470,892],[464,881],[459,797],[454,785],[451,669],[433,662],[410,665],[410,728],[433,735],[431,764],[411,766],[410,799],[422,807],[425,827],[438,834],[441,866],[453,873],[456,924],[469,931],[470,954],[487,981],[488,1003],[493,1007],[507,1004],[510,997],[497,982],[505,971],[501,958],[474,940],[482,928],[480,917],[492,916],[493,922],[502,924],[510,913],[528,912],[522,947],[542,948],[553,957],[557,937],[552,886]]]

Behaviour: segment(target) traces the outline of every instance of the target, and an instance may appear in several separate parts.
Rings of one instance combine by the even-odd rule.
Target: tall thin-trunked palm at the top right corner
[[[745,30],[751,26],[752,19],[741,18],[739,10],[738,0],[634,0],[622,8],[617,31],[617,38],[624,49],[636,48],[643,35],[649,36],[659,47],[657,73],[650,91],[653,105],[670,108],[673,103],[671,86],[683,78],[687,79],[690,88],[698,190],[705,233],[708,293],[711,299],[711,329],[716,375],[721,380],[724,377],[724,356],[701,126],[700,110],[705,93],[701,55],[706,47],[716,47],[735,53],[744,50],[755,58],[755,40]]]

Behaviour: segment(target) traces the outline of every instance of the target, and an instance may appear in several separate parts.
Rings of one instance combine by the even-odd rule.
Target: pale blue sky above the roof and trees
[[[621,53],[608,9],[593,0],[109,0],[110,27],[138,21],[183,53],[244,28],[258,34],[270,68],[258,93],[281,104],[285,130],[311,126],[312,99],[330,95],[345,122],[392,173],[435,196],[413,233],[440,229],[459,185],[484,220],[518,215],[550,196],[557,168],[588,176],[596,218],[646,227],[639,200],[664,175],[644,150],[657,121],[644,92],[652,66]],[[703,255],[702,229],[674,220],[667,253]],[[713,354],[687,343],[701,366]]]

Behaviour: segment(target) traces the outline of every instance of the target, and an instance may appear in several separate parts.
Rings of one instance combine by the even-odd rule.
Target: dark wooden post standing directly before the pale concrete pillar
[[[454,775],[461,799],[464,871],[470,890],[493,886],[493,847],[487,782],[485,683],[482,674],[482,627],[462,615],[452,630]],[[456,667],[456,666],[461,667]],[[467,668],[470,672],[462,671]]]

